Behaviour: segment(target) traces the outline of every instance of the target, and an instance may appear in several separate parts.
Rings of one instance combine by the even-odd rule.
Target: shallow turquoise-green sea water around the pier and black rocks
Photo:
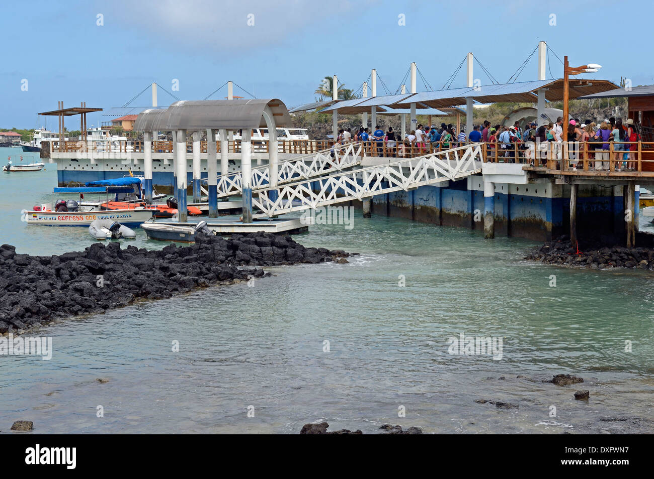
[[[0,243],[39,255],[90,245],[85,228],[20,221],[56,183],[54,165],[24,175],[0,177]],[[163,245],[138,235],[130,244]],[[39,328],[52,360],[0,356],[0,431],[32,420],[39,433],[298,433],[326,420],[366,433],[386,422],[581,433],[609,427],[601,416],[654,417],[651,273],[533,264],[523,260],[530,241],[360,211],[351,230],[312,226],[296,240],[361,255]],[[460,333],[502,337],[502,359],[449,354]],[[585,382],[540,382],[557,373]],[[575,401],[579,389],[590,401]]]

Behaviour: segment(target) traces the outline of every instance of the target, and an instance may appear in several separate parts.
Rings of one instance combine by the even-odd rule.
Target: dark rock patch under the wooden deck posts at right
[[[598,243],[573,247],[570,238],[562,236],[530,251],[525,260],[540,261],[557,266],[590,268],[638,268],[654,271],[654,249],[646,247],[627,248],[602,246]]]

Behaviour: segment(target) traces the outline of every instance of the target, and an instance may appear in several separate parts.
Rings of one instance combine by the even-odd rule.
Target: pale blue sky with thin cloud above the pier
[[[55,110],[58,100],[109,110],[152,82],[201,100],[232,80],[234,95],[279,98],[290,109],[313,101],[322,78],[334,74],[357,90],[377,69],[394,94],[415,61],[426,80],[419,75],[418,91],[441,89],[468,52],[505,83],[540,40],[549,46],[547,78],[562,76],[556,54],[573,66],[602,65],[581,78],[654,84],[646,48],[654,2],[625,5],[628,19],[617,14],[623,7],[596,0],[5,1],[0,128],[44,126],[37,113]],[[536,57],[518,81],[537,79]],[[491,83],[477,63],[473,77]],[[465,85],[464,66],[451,87]],[[162,89],[158,104],[167,106],[174,99]],[[211,99],[226,95],[224,86]],[[150,91],[130,105],[150,106]],[[88,125],[111,119],[103,114],[89,115]],[[55,117],[47,126],[56,129]],[[77,129],[78,120],[67,127]]]

